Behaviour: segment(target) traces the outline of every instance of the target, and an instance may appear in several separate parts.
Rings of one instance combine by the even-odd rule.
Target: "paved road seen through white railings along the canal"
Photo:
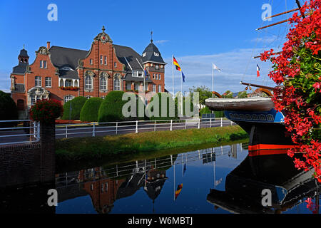
[[[101,135],[121,135],[127,133],[136,132],[136,124],[132,123],[118,123],[116,128],[116,123],[113,125],[95,125],[95,136]],[[210,124],[210,121],[201,121],[200,128],[217,128],[220,127],[220,120],[215,120]],[[223,120],[223,126],[231,125],[230,120]],[[235,125],[235,123],[233,123]],[[191,129],[198,128],[198,122],[187,122],[187,123],[173,123],[172,130],[182,130],[182,129]],[[170,130],[170,123],[140,123],[138,122],[138,133],[147,132],[147,131],[160,131],[160,130]],[[67,134],[66,134],[67,133]],[[0,143],[4,142],[21,142],[35,140],[34,135],[31,132],[31,135],[28,134],[23,129],[17,130],[0,130]],[[2,135],[11,135],[9,137],[1,137]],[[24,136],[21,136],[24,135]],[[59,125],[56,127],[56,138],[74,138],[74,137],[90,137],[93,136],[93,125]]]

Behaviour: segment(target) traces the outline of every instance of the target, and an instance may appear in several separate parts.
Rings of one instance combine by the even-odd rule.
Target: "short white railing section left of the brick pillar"
[[[39,142],[40,140],[40,125],[39,123],[32,122],[31,120],[0,120],[1,123],[30,123],[29,126],[0,128],[0,145],[11,145],[26,142]],[[24,130],[29,129],[29,133]],[[21,132],[22,131],[22,132]],[[28,140],[26,137],[29,137]]]

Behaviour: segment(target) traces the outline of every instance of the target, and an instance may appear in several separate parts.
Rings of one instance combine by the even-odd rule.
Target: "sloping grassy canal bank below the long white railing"
[[[248,138],[239,126],[203,128],[56,140],[57,167],[97,160],[130,160],[161,150],[222,145]]]

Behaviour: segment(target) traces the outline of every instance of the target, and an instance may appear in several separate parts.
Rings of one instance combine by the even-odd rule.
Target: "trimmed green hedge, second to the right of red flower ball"
[[[98,121],[98,110],[103,103],[102,98],[89,98],[81,108],[81,121]]]

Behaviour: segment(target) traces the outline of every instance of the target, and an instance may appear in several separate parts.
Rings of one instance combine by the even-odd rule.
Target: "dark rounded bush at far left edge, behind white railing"
[[[16,120],[18,118],[18,109],[16,103],[7,93],[0,90],[0,120]],[[16,123],[0,123],[1,128],[9,128]]]

